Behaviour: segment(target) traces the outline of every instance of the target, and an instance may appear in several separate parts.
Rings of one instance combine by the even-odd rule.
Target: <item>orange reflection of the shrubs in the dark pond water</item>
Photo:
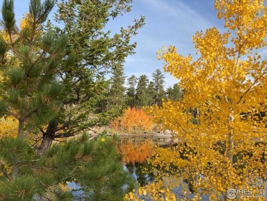
[[[118,153],[123,158],[123,163],[142,163],[153,154],[153,143],[151,141],[143,141],[141,143],[131,142],[118,145]]]

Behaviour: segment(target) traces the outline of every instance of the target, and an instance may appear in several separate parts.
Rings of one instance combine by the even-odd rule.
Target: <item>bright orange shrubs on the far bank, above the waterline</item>
[[[110,128],[115,130],[152,130],[152,117],[144,113],[144,110],[127,108],[122,117],[118,117],[110,123]]]

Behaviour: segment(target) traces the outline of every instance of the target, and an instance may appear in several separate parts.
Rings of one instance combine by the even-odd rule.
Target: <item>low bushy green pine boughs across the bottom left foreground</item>
[[[131,175],[125,172],[116,152],[116,139],[98,137],[88,141],[86,135],[53,145],[36,156],[26,141],[0,140],[1,160],[10,165],[19,156],[20,173],[16,180],[0,176],[0,200],[74,200],[75,189],[63,191],[58,185],[75,182],[81,197],[75,200],[123,200],[133,189]],[[16,147],[10,147],[15,144]],[[14,151],[16,148],[16,151]]]

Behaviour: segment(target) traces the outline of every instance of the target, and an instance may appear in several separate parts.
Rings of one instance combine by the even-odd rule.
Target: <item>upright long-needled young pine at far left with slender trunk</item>
[[[23,140],[25,124],[41,126],[48,123],[60,107],[62,84],[55,78],[58,66],[67,65],[67,36],[43,32],[42,23],[53,8],[54,1],[31,1],[29,26],[18,30],[13,1],[3,1],[0,43],[5,47],[1,64],[2,114],[18,120],[17,143]],[[66,61],[64,61],[66,59]],[[14,157],[12,179],[18,177],[18,158]]]

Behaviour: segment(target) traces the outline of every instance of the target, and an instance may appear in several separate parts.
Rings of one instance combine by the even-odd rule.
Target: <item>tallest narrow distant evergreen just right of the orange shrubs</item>
[[[155,104],[161,105],[162,99],[165,97],[164,91],[164,75],[160,69],[156,69],[155,73],[152,73],[154,89],[155,89]]]

